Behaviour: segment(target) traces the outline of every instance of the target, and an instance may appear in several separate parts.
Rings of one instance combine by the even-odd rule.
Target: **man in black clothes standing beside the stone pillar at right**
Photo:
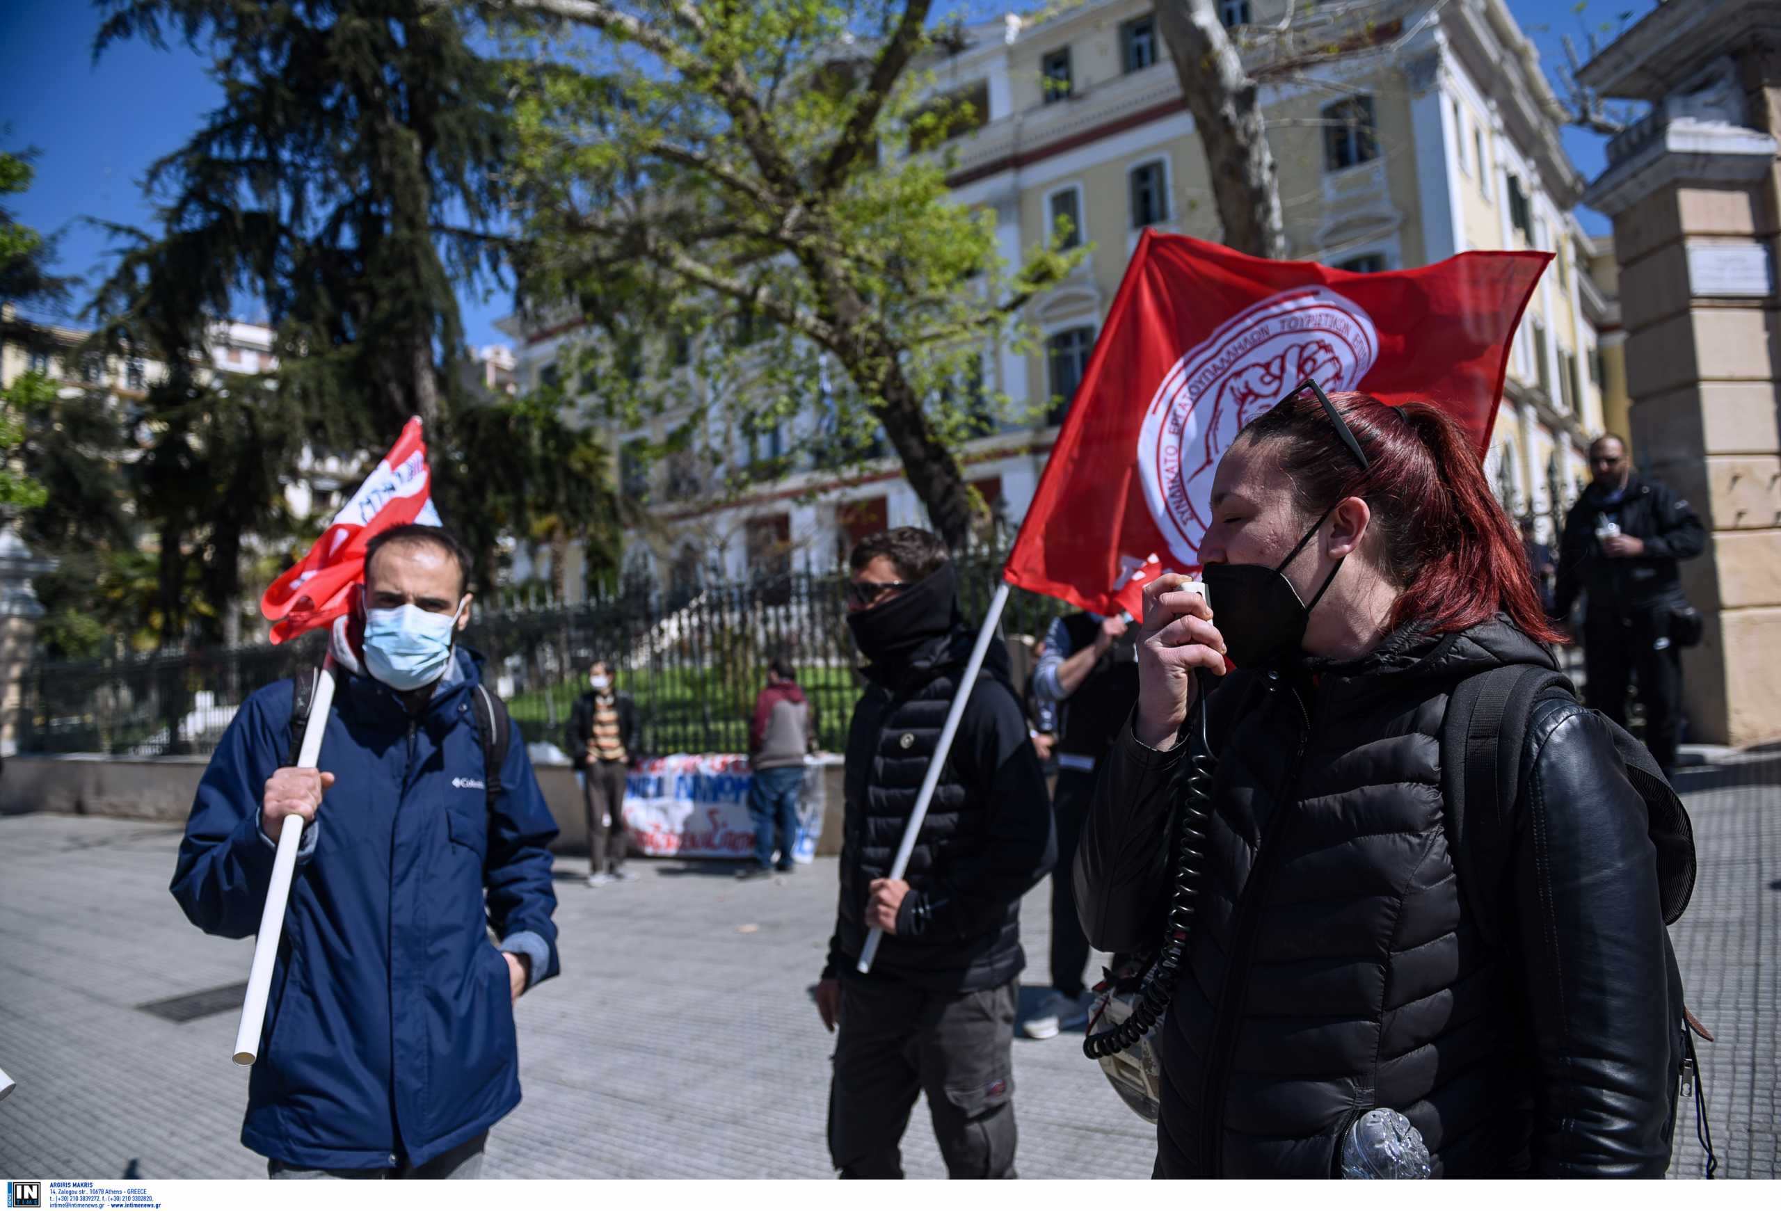
[[[1688,502],[1633,475],[1626,442],[1596,438],[1592,483],[1565,516],[1553,614],[1583,597],[1583,700],[1626,727],[1626,686],[1639,680],[1646,748],[1663,773],[1681,734],[1681,648],[1699,643],[1699,614],[1681,593],[1678,565],[1706,550],[1706,527]]]

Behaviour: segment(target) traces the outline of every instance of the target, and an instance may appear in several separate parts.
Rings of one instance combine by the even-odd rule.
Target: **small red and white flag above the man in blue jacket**
[[[289,572],[260,597],[260,613],[272,622],[272,643],[326,627],[353,607],[353,586],[365,579],[365,545],[394,525],[442,525],[433,508],[427,443],[420,417],[403,426],[403,436],[365,477],[353,499]]]

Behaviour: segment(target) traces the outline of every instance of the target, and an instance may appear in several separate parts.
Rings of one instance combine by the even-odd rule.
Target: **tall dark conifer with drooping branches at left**
[[[427,0],[96,5],[94,55],[175,36],[224,85],[223,105],[150,169],[162,230],[121,232],[130,246],[100,292],[102,317],[119,333],[164,329],[182,360],[201,354],[205,324],[237,297],[258,299],[280,356],[276,419],[264,424],[331,451],[381,451],[422,417],[442,513],[492,549],[454,433],[465,401],[442,372],[463,347],[454,287],[479,289],[500,264],[506,103],[463,14]]]

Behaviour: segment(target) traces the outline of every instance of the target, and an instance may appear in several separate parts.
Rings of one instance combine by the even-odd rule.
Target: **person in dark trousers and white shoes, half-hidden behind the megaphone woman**
[[[1051,812],[1058,823],[1058,866],[1051,873],[1051,992],[1021,1024],[1029,1038],[1054,1038],[1088,1024],[1094,1003],[1083,983],[1088,939],[1076,915],[1070,864],[1095,791],[1095,764],[1118,739],[1138,700],[1138,650],[1124,618],[1074,613],[1054,618],[1045,655],[1033,671],[1033,693],[1061,721],[1058,785]]]

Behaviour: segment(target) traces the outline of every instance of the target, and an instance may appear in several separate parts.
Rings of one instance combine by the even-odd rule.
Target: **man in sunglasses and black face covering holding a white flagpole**
[[[992,643],[960,687],[972,630],[944,543],[899,527],[853,550],[848,625],[869,661],[846,753],[841,905],[817,983],[839,1026],[828,1150],[842,1177],[901,1177],[899,1142],[928,1093],[953,1177],[1013,1177],[1012,1044],[1021,896],[1056,858],[1045,778]],[[887,878],[956,693],[971,698],[910,855]],[[869,974],[866,935],[885,931]]]

